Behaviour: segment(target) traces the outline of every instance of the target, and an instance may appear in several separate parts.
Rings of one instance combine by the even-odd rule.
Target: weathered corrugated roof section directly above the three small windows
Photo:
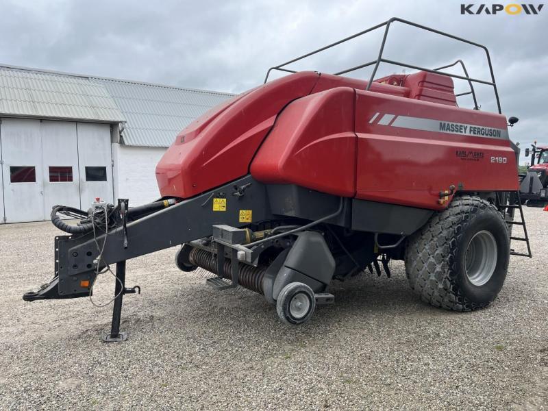
[[[125,117],[102,84],[86,77],[0,66],[0,115],[120,123]]]

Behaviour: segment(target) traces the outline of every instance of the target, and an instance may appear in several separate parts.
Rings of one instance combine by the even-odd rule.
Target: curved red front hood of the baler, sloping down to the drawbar
[[[162,197],[192,197],[246,175],[277,114],[308,95],[318,77],[306,71],[277,79],[188,125],[156,166]]]

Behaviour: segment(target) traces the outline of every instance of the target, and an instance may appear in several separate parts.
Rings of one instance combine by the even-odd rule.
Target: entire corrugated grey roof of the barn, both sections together
[[[125,145],[169,147],[184,127],[232,97],[225,92],[0,65],[0,115],[125,122]]]

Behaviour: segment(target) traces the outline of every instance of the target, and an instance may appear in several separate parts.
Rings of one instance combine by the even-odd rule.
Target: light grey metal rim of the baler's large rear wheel
[[[488,231],[477,232],[466,247],[466,277],[475,286],[483,286],[493,277],[497,266],[497,241]]]

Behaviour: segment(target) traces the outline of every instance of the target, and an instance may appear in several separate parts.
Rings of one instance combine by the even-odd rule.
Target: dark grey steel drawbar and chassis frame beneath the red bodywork
[[[212,204],[217,198],[226,199],[225,211],[213,211]],[[314,207],[310,207],[311,204]],[[90,287],[82,284],[93,284],[97,264],[99,269],[103,269],[107,264],[125,262],[161,249],[211,237],[214,226],[247,227],[250,223],[240,222],[240,210],[251,210],[253,223],[303,223],[295,230],[282,233],[282,236],[319,223],[348,230],[374,232],[377,234],[375,242],[381,243],[377,243],[381,250],[401,244],[403,238],[419,229],[433,213],[432,210],[328,195],[290,184],[262,184],[247,175],[127,223],[127,234],[121,226],[108,235],[97,233],[97,238],[92,233],[83,236],[56,236],[55,277],[49,284],[42,286],[38,293],[25,299],[32,301],[85,297],[90,294]],[[379,221],[384,223],[379,224]],[[379,240],[379,234],[388,236]],[[127,247],[124,246],[126,238]],[[267,243],[275,240],[276,237],[273,236],[249,245],[229,245],[228,248],[236,249],[236,252],[242,251],[238,256],[240,262],[256,265],[258,256]],[[103,244],[103,255],[99,261],[98,245],[103,247]]]

